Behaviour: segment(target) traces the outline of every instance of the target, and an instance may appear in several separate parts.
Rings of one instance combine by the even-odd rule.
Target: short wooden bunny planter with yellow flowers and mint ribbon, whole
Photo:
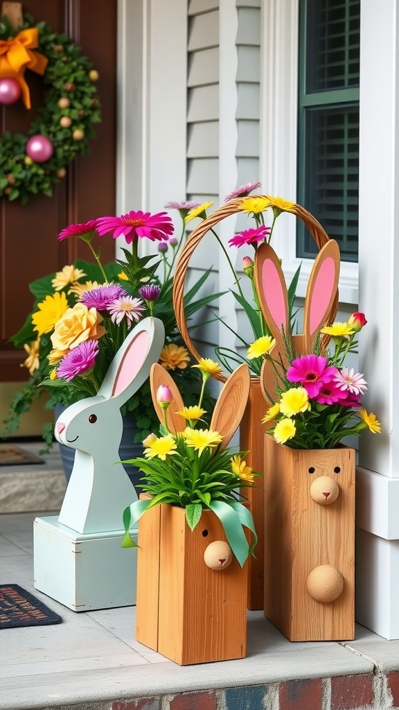
[[[218,364],[201,359],[203,383]],[[126,508],[122,545],[138,522],[136,638],[187,665],[244,657],[246,653],[246,560],[256,545],[248,503],[253,471],[245,452],[227,444],[246,407],[249,373],[234,371],[222,389],[209,427],[203,425],[202,393],[184,405],[158,364],[151,389],[160,436],[143,442],[133,461],[143,471],[141,499]],[[253,535],[248,541],[247,528]]]

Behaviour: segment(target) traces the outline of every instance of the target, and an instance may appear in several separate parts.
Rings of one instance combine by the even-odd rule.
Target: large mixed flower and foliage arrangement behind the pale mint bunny
[[[94,263],[79,259],[29,285],[34,297],[33,308],[11,340],[16,347],[26,350],[23,364],[30,378],[11,403],[9,416],[4,420],[3,436],[18,430],[21,415],[43,390],[48,395],[48,408],[59,405],[56,418],[62,408],[96,395],[131,327],[146,316],[162,320],[165,347],[160,361],[180,381],[187,399],[195,397],[200,378],[190,369],[190,375],[182,378],[190,356],[182,346],[172,305],[175,260],[185,239],[183,218],[192,204],[197,203],[181,207],[183,229],[178,239],[166,212],[150,214],[141,210],[121,217],[99,217],[84,224],[72,224],[61,231],[58,236],[61,241],[84,241]],[[98,245],[106,234],[114,238],[124,236],[126,249],[122,249],[124,258],[103,265]],[[158,243],[155,255],[139,256],[143,240]],[[204,272],[187,293],[190,314],[217,297],[216,294],[195,298],[208,273]],[[148,381],[129,398],[121,412],[124,415],[121,457],[127,458],[142,451],[141,441],[156,423]],[[45,427],[43,438],[50,446],[52,424]],[[69,480],[74,452],[63,446],[61,451]],[[133,467],[127,470],[136,483],[137,471]]]

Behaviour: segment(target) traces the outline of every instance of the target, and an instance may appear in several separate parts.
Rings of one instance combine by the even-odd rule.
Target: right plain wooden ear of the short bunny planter
[[[222,434],[225,449],[244,415],[251,385],[248,365],[240,365],[224,383],[214,408],[211,429]]]

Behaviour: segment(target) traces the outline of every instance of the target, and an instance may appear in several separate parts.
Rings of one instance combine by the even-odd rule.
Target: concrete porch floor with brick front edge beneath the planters
[[[399,707],[399,641],[290,643],[248,612],[243,660],[180,667],[137,643],[135,608],[75,613],[33,586],[35,513],[0,515],[0,583],[62,616],[0,632],[0,709],[385,710]]]

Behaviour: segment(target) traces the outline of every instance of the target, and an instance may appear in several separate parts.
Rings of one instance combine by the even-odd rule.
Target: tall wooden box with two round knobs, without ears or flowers
[[[290,641],[353,639],[354,449],[266,435],[264,487],[265,616]]]

